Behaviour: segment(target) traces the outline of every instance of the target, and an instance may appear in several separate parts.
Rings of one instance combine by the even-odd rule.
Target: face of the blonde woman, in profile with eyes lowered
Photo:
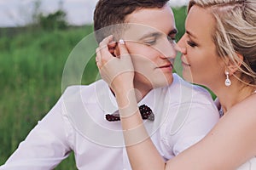
[[[177,43],[182,49],[183,78],[213,88],[224,83],[224,62],[212,37],[216,21],[207,9],[193,6],[186,19],[186,33]]]

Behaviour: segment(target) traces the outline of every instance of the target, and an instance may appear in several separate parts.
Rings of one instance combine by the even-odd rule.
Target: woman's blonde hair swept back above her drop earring
[[[220,57],[240,64],[239,79],[256,84],[256,1],[255,0],[190,0],[189,9],[207,8],[216,20],[213,42]],[[243,56],[243,60],[237,54]],[[238,77],[237,77],[238,78]]]

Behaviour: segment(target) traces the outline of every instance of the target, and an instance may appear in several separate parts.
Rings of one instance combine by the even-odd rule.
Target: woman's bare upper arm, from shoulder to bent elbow
[[[166,169],[236,169],[255,156],[253,101],[255,103],[256,96],[234,106],[204,139],[168,161]]]

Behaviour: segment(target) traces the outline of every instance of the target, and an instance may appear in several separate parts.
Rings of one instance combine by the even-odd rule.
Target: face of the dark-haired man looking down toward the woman
[[[125,21],[128,27],[122,38],[136,71],[135,88],[147,93],[171,84],[172,64],[177,54],[172,9],[143,8],[129,14]]]

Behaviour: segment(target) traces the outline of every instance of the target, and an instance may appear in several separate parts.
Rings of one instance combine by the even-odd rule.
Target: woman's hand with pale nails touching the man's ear
[[[96,48],[96,65],[114,93],[133,88],[134,68],[123,40],[113,42],[113,36],[102,40]]]

